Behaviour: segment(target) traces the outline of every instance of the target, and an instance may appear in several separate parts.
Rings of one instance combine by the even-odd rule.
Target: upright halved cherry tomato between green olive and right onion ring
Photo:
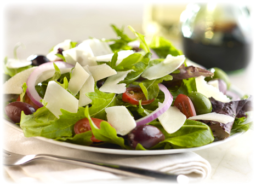
[[[174,106],[186,115],[186,118],[196,115],[195,107],[189,96],[179,94],[174,101]]]

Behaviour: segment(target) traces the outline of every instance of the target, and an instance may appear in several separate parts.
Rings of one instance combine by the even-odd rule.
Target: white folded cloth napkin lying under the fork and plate
[[[149,156],[87,152],[85,150],[62,147],[33,137],[26,138],[22,132],[7,125],[4,126],[3,135],[4,149],[19,154],[54,154],[147,168],[177,175],[186,175],[190,178],[190,182],[201,181],[207,178],[211,172],[209,162],[193,152]],[[98,183],[101,181],[104,181],[104,183],[105,181],[127,183],[135,180],[138,183],[138,178],[115,175],[110,172],[50,160],[38,160],[22,166],[4,167],[4,169],[16,183]],[[140,182],[147,183],[149,181],[140,179]]]

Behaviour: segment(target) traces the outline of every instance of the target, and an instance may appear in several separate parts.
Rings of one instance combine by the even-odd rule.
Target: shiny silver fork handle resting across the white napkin
[[[57,156],[57,155],[38,154],[35,156],[35,159],[46,159],[46,160],[66,162],[70,164],[82,165],[89,168],[94,168],[101,171],[108,171],[108,172],[117,173],[120,175],[126,175],[126,176],[132,176],[132,177],[150,179],[150,180],[161,179],[164,181],[181,183],[181,182],[188,182],[188,179],[189,179],[184,175],[171,175],[169,173],[146,170],[144,168],[106,164],[104,162],[93,162],[93,161],[87,161],[83,159],[67,158],[64,156]]]

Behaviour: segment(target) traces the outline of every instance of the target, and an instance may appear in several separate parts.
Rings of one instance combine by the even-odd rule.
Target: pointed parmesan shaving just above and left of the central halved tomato
[[[118,83],[124,80],[127,74],[131,71],[133,70],[117,72],[117,74],[107,78],[107,80],[100,87],[99,90],[103,92],[122,94],[123,92],[126,91],[126,84],[125,83],[118,84]]]

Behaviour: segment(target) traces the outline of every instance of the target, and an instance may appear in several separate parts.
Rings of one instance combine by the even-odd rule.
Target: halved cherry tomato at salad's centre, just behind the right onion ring
[[[140,100],[141,104],[150,104],[155,98],[147,100],[141,88],[129,87],[126,89],[126,92],[123,93],[122,100],[130,104],[139,104]]]

